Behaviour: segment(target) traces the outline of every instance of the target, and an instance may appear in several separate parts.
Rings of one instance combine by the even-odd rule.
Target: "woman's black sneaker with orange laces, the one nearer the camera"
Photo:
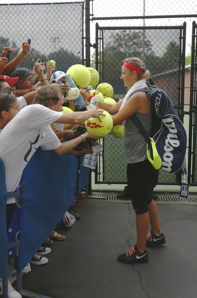
[[[129,251],[119,255],[117,257],[118,262],[124,264],[132,264],[132,263],[147,263],[148,262],[148,252],[145,250],[144,253],[141,253],[137,250],[137,245],[131,247]]]

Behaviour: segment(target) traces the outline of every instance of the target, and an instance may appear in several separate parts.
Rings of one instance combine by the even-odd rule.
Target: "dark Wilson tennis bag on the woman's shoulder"
[[[136,92],[146,92],[152,108],[151,137],[156,143],[157,151],[162,159],[161,169],[169,173],[181,169],[186,154],[187,134],[169,96],[160,88],[150,85],[149,89],[140,89]],[[135,92],[134,92],[135,93]],[[133,117],[134,116],[134,117]],[[131,119],[140,130],[141,121],[132,115]],[[142,125],[142,124],[141,124]],[[144,130],[140,130],[147,140]]]

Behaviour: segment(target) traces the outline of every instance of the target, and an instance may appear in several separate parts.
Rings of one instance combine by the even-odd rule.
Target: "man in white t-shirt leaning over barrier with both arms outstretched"
[[[0,133],[0,157],[5,165],[7,192],[15,191],[19,185],[23,169],[38,147],[44,150],[54,150],[57,154],[62,155],[86,139],[98,139],[98,137],[86,132],[71,141],[60,143],[50,124],[56,122],[76,125],[90,117],[99,118],[102,111],[90,109],[71,114],[56,112],[54,111],[55,105],[62,109],[61,89],[53,85],[44,86],[37,91],[35,99],[39,101],[39,98],[42,98],[44,94],[50,99],[50,108],[40,104],[26,106]],[[50,106],[50,104],[48,105]],[[8,204],[14,202],[14,199],[7,201]]]

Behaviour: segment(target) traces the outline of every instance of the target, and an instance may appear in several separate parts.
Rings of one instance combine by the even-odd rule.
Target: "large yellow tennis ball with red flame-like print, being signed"
[[[95,137],[106,136],[113,127],[111,115],[106,111],[103,111],[103,114],[105,116],[100,116],[102,122],[100,122],[98,118],[93,117],[85,122],[87,131]]]

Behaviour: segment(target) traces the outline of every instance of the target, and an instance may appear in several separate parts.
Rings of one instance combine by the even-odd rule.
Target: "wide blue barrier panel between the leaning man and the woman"
[[[78,162],[74,155],[59,156],[53,151],[38,149],[25,167],[21,178],[23,215],[18,270],[27,265],[75,201]],[[88,182],[88,174],[89,169],[81,166],[79,190]]]

